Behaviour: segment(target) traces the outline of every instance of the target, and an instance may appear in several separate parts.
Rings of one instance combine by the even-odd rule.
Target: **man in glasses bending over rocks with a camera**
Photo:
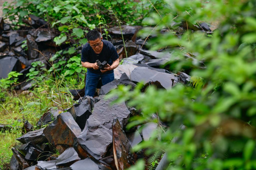
[[[99,78],[105,85],[114,80],[114,69],[119,65],[119,56],[113,44],[102,40],[97,30],[91,30],[86,35],[87,43],[82,48],[81,63],[87,68],[85,95],[94,96]],[[99,70],[96,60],[106,61],[108,67]]]

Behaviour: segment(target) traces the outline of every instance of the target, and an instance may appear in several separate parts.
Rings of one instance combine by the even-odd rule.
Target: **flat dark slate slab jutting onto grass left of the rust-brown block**
[[[20,141],[23,144],[28,143],[28,142],[32,142],[34,144],[46,143],[47,139],[43,133],[43,130],[44,130],[44,128],[30,131],[30,132],[22,135],[21,137],[17,138],[16,140]]]

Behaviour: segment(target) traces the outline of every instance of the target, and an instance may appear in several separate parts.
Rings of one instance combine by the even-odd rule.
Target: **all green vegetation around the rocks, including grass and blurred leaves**
[[[191,86],[178,84],[169,90],[151,86],[141,92],[142,85],[133,91],[120,85],[112,91],[111,95],[119,97],[117,102],[128,100],[143,113],[130,119],[128,128],[150,121],[161,127],[149,141],[135,148],[148,148],[148,152],[154,153],[146,168],[156,167],[163,157],[162,151],[167,155],[163,159],[166,158],[168,169],[256,168],[256,1],[58,0],[16,1],[15,5],[5,6],[5,17],[13,21],[14,27],[18,28],[28,14],[38,15],[58,31],[56,44],[66,42],[70,47],[51,58],[63,60],[50,70],[44,70],[40,63],[34,64],[35,69],[28,76],[35,86],[29,94],[13,90],[12,85],[18,83],[17,73],[0,80],[5,100],[0,103],[0,121],[15,127],[0,133],[1,166],[9,161],[10,148],[18,145],[15,138],[21,135],[18,126],[23,124],[19,120],[36,124],[50,107],[65,109],[76,102],[71,100],[68,88],[83,87],[86,69],[81,68],[76,47],[86,42],[84,33],[101,27],[107,38],[106,28],[121,21],[151,26],[142,29],[139,35],[155,35],[148,41],[153,50],[167,49],[180,57],[167,64],[170,70],[189,70],[187,73],[193,76]],[[109,7],[115,15],[109,15]],[[216,20],[219,26],[213,33],[191,31],[193,24]],[[180,22],[186,25],[187,32],[177,35],[175,23]],[[167,31],[160,33],[163,28]],[[62,52],[69,55],[68,60]],[[184,58],[184,53],[203,61],[205,68]],[[156,113],[157,119],[152,119],[152,113]],[[139,160],[132,169],[145,169],[145,160]]]

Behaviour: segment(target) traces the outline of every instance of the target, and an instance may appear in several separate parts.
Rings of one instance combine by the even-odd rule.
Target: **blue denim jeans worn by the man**
[[[97,74],[90,70],[87,70],[86,85],[85,85],[85,96],[94,96],[95,89],[101,78],[102,84],[105,85],[114,80],[114,73]]]

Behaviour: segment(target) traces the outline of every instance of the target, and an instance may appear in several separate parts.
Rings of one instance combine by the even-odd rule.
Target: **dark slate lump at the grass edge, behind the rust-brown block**
[[[44,113],[41,118],[37,122],[37,126],[45,125],[49,122],[51,122],[53,119],[56,119],[56,117],[61,113],[61,110],[55,110],[50,109],[46,113]]]

